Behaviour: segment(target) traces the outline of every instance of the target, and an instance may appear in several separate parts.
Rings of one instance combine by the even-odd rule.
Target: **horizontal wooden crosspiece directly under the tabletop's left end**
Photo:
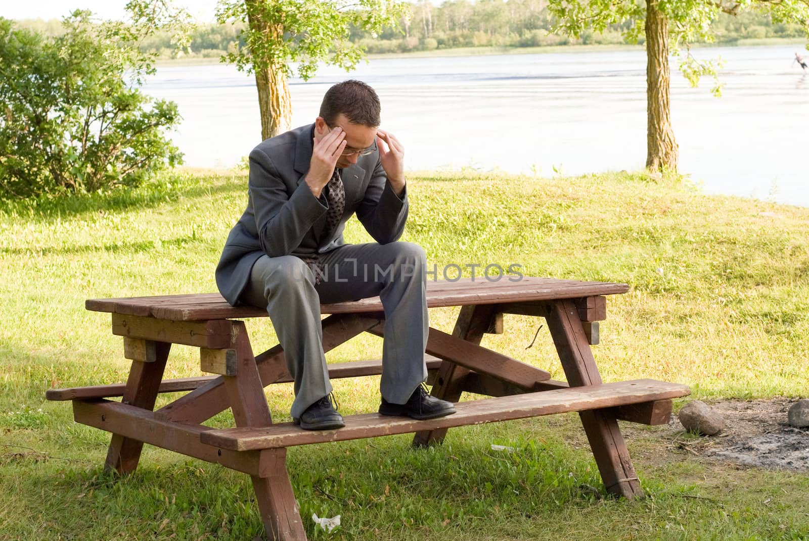
[[[227,348],[231,344],[231,322],[167,321],[138,315],[112,314],[112,334],[218,349]]]

